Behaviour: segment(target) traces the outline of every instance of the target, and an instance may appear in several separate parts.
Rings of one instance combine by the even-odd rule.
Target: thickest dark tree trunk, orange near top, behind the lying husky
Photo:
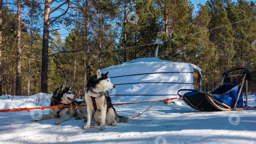
[[[44,30],[43,30],[43,47],[42,47],[42,72],[41,72],[41,92],[48,93],[48,45],[49,45],[49,17],[50,17],[50,0],[45,1],[44,12]]]

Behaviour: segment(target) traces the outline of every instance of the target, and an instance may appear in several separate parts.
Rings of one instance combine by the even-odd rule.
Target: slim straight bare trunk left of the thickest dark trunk
[[[21,0],[17,0],[17,7],[16,95],[21,95]]]

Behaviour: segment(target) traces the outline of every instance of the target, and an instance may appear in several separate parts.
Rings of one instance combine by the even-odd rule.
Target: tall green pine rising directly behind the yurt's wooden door
[[[206,31],[211,20],[208,4],[198,4],[198,9],[194,19],[196,32]],[[212,77],[214,75],[213,67],[218,60],[215,55],[215,46],[210,42],[209,32],[198,33],[194,38],[195,42],[189,43],[191,45],[189,47],[194,48],[189,61],[201,68],[202,91],[209,92],[212,89],[211,82],[216,79]]]

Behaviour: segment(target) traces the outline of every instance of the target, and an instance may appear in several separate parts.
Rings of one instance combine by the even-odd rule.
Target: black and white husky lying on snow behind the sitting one
[[[71,93],[70,88],[71,87],[65,87],[64,84],[62,84],[61,87],[56,89],[52,96],[50,106],[62,105],[70,99],[73,99],[75,95]],[[64,105],[86,105],[86,103],[84,101],[78,102],[70,100]],[[55,124],[60,124],[64,121],[70,120],[72,117],[76,117],[76,119],[84,119],[87,117],[86,109],[86,106],[52,108],[50,109],[49,114],[43,115],[39,120],[58,118]],[[33,119],[32,122],[39,120]]]

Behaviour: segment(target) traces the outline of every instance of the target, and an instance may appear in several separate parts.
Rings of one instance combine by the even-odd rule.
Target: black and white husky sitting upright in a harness
[[[104,130],[105,125],[116,126],[117,122],[129,122],[128,117],[117,115],[112,106],[111,98],[107,90],[113,90],[115,86],[110,82],[109,77],[102,74],[98,69],[96,75],[92,76],[86,84],[87,92],[85,93],[85,101],[87,103],[87,123],[84,129],[89,129],[91,124],[91,116],[94,110],[94,126],[100,125],[100,130]]]

